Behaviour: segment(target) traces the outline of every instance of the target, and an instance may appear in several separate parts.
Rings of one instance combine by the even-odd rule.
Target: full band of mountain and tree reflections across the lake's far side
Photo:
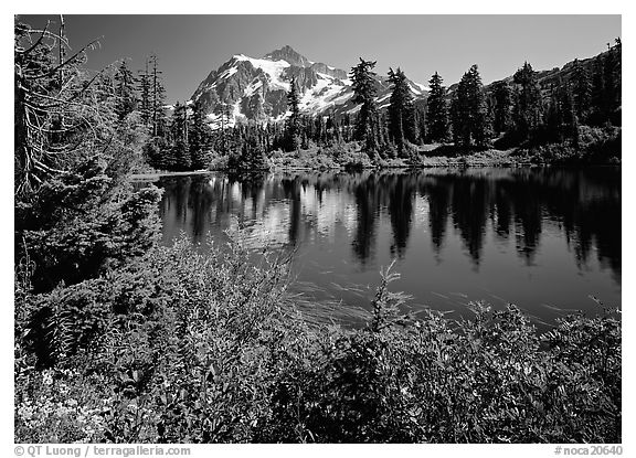
[[[166,239],[181,228],[200,242],[211,231],[244,228],[256,246],[296,246],[342,231],[356,259],[375,256],[388,224],[391,253],[403,257],[414,231],[437,255],[453,231],[476,268],[485,237],[513,239],[531,265],[547,225],[566,239],[580,267],[596,252],[621,278],[621,171],[534,169],[426,170],[412,173],[285,173],[162,179]],[[342,253],[341,256],[346,254]]]

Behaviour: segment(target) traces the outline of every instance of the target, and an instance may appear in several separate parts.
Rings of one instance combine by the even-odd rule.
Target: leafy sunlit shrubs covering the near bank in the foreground
[[[308,324],[285,259],[237,242],[17,294],[15,441],[621,441],[610,310],[544,335],[512,306],[404,318],[392,278],[361,330]]]

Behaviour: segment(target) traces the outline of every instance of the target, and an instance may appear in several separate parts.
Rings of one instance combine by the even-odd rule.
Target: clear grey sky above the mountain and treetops
[[[23,17],[41,25],[50,18]],[[74,47],[104,35],[88,66],[123,57],[141,68],[156,53],[168,102],[188,99],[210,71],[233,54],[259,57],[289,44],[310,61],[349,71],[358,57],[378,73],[401,66],[425,84],[439,72],[447,85],[477,64],[484,83],[590,57],[621,36],[621,15],[66,15]]]

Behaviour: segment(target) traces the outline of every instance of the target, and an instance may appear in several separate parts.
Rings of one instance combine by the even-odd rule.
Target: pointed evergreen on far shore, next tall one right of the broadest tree
[[[523,63],[515,73],[513,82],[518,85],[513,108],[515,126],[521,138],[529,138],[538,131],[542,116],[541,89],[532,65]]]

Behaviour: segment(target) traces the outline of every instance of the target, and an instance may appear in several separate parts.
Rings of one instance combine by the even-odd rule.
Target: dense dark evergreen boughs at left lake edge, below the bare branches
[[[94,278],[158,239],[159,190],[132,192],[108,167],[106,160],[87,159],[17,203],[15,258],[33,263],[35,290]]]

